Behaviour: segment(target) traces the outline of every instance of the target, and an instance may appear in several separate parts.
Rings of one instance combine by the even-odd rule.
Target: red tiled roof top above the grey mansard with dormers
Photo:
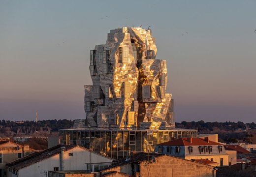
[[[209,146],[209,145],[221,145],[213,141],[205,141],[203,138],[191,138],[192,143],[188,141],[189,138],[179,138],[173,141],[160,143],[161,146]]]

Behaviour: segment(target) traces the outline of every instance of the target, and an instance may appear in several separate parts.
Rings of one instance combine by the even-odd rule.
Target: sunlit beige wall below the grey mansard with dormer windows
[[[208,159],[211,160],[213,158],[214,162],[217,162],[217,164],[212,164],[212,166],[221,166],[221,158],[223,158],[223,166],[228,165],[228,155],[202,155],[202,156],[186,156],[185,159],[191,160],[191,159]]]

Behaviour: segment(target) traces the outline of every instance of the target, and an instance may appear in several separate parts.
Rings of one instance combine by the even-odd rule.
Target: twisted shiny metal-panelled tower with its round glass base
[[[127,151],[153,151],[172,138],[196,137],[175,128],[174,101],[166,93],[166,60],[156,59],[151,29],[113,29],[90,51],[92,86],[85,86],[85,119],[59,130],[61,143],[121,158]]]

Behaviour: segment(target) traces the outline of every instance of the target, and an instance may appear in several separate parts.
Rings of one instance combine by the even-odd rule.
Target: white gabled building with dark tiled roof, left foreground
[[[47,177],[48,171],[89,170],[89,164],[95,164],[91,168],[94,171],[112,160],[80,146],[57,145],[7,164],[7,177]]]

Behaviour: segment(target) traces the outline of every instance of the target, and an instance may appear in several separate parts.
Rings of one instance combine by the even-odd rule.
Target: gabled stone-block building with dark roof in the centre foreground
[[[109,172],[112,175],[106,177],[213,177],[214,168],[170,155],[138,152],[116,161],[102,170],[101,175]]]

